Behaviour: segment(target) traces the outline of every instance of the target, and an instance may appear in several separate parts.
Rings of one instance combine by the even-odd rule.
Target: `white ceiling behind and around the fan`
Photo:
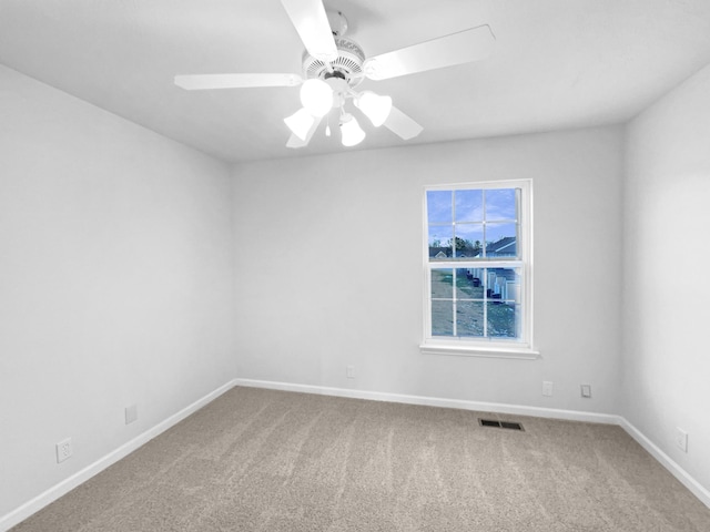
[[[487,23],[480,62],[365,81],[424,126],[362,120],[357,149],[623,122],[710,62],[710,0],[324,0],[368,57]],[[187,92],[175,74],[301,73],[278,0],[0,0],[0,62],[229,162],[353,150],[316,132],[285,147],[297,88]],[[1,88],[0,88],[1,89]],[[322,127],[324,127],[322,125]]]

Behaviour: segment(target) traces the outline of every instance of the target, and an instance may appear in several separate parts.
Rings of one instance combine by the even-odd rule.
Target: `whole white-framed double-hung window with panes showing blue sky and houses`
[[[536,358],[529,181],[425,193],[422,350]]]

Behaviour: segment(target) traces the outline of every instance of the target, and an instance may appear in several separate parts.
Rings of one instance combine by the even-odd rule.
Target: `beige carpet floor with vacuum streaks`
[[[234,388],[12,530],[708,532],[710,509],[619,427]]]

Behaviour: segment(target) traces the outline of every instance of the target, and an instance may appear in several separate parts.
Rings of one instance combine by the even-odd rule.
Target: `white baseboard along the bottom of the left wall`
[[[105,457],[100,458],[92,464],[87,466],[81,471],[78,471],[77,473],[72,474],[68,479],[64,479],[58,484],[51,487],[49,490],[44,491],[43,493],[40,493],[34,499],[26,502],[24,504],[11,511],[10,513],[0,516],[0,531],[7,531],[12,526],[14,526],[16,524],[19,524],[20,522],[24,521],[27,518],[38,512],[49,503],[55,501],[60,497],[64,495],[65,493],[70,492],[78,485],[89,480],[90,478],[100,473],[101,471],[106,469],[109,466],[112,466],[113,463],[118,462],[122,458],[126,457],[128,454],[136,450],[139,447],[148,443],[150,440],[152,440],[160,433],[164,432],[165,430],[170,429],[174,424],[178,424],[180,421],[185,419],[191,413],[194,413],[195,411],[200,410],[202,407],[204,407],[209,402],[212,402],[222,393],[232,389],[234,387],[234,383],[235,381],[230,381],[224,386],[221,386],[216,390],[197,399],[192,405],[183,408],[182,410],[174,413],[173,416],[165,419],[164,421],[161,421],[160,423],[146,430],[142,434],[136,436],[131,441],[122,444],[114,451],[111,451]]]

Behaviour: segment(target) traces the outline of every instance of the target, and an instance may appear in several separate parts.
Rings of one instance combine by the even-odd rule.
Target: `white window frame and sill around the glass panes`
[[[462,268],[460,260],[429,259],[428,246],[428,219],[427,219],[427,192],[429,191],[460,191],[460,190],[491,190],[491,188],[518,188],[519,202],[519,229],[517,235],[517,257],[499,257],[471,259],[464,264],[476,264],[476,267],[488,268],[519,268],[520,272],[520,337],[516,339],[493,339],[476,337],[435,337],[432,335],[432,299],[430,275],[436,268]],[[462,355],[499,358],[536,359],[540,354],[534,348],[532,342],[532,181],[510,180],[480,183],[455,183],[447,185],[432,185],[424,190],[424,341],[419,346],[423,354],[427,355]]]

